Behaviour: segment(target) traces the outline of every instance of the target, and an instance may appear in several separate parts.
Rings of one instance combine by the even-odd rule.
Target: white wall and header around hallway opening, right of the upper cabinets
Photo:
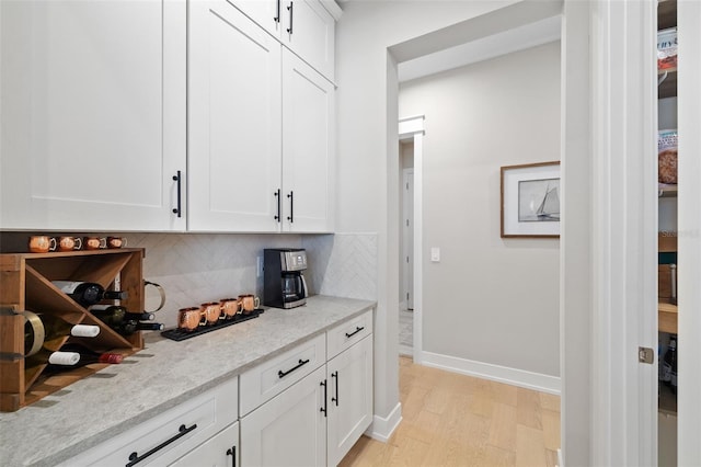
[[[545,2],[530,2],[525,10],[538,10]],[[397,62],[388,52],[414,58],[421,37],[474,19],[502,7],[526,4],[515,1],[352,1],[336,27],[337,170],[336,185],[340,232],[378,234],[378,309],[375,346],[376,422],[387,423],[399,408],[398,342],[398,80]],[[519,13],[506,14],[509,24],[537,21]],[[540,14],[540,13],[538,13]],[[536,16],[538,15],[536,14]],[[528,16],[528,18],[527,18]],[[490,27],[472,27],[473,36],[504,24],[492,18]],[[472,24],[470,24],[472,25]],[[451,32],[453,30],[451,29]],[[463,31],[464,32],[464,31]],[[468,34],[470,35],[470,34]],[[420,38],[417,43],[411,41]],[[446,36],[440,39],[446,39]],[[398,45],[405,44],[401,50]],[[455,45],[455,44],[453,44]],[[392,157],[389,158],[388,155]],[[416,304],[415,304],[416,306]]]

